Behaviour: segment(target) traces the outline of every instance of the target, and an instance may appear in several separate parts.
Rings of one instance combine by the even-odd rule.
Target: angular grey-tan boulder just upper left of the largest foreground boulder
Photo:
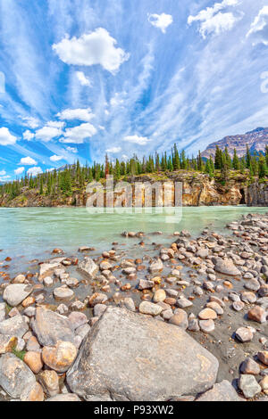
[[[57,341],[75,342],[74,332],[68,318],[46,308],[37,308],[36,317],[32,321],[31,327],[38,342],[43,346],[54,346]]]

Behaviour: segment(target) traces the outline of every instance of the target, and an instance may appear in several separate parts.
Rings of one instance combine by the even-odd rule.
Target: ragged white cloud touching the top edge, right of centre
[[[234,24],[242,17],[235,16],[232,12],[221,12],[229,6],[239,4],[240,0],[223,0],[222,3],[215,3],[213,7],[207,7],[205,10],[199,12],[196,16],[188,17],[188,24],[191,25],[194,21],[199,21],[199,32],[202,37],[209,34],[219,35],[225,30],[233,28]]]

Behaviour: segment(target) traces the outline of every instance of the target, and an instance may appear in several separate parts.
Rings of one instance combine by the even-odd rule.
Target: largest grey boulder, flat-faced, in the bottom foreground
[[[168,400],[211,389],[218,366],[180,327],[108,307],[83,342],[67,382],[86,400]]]

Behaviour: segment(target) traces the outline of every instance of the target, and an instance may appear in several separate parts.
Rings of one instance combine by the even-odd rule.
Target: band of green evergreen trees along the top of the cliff
[[[59,196],[70,197],[73,193],[84,191],[85,185],[93,180],[97,182],[105,181],[108,175],[113,175],[115,180],[121,178],[142,176],[152,174],[154,177],[161,178],[173,171],[187,171],[192,174],[205,173],[210,177],[215,177],[222,185],[231,177],[239,174],[247,175],[248,181],[253,182],[258,177],[262,182],[268,176],[268,146],[265,153],[251,155],[247,147],[246,155],[238,157],[234,150],[231,159],[228,148],[222,151],[217,147],[214,158],[204,160],[198,152],[197,158],[188,158],[184,151],[179,152],[177,145],[172,148],[172,153],[167,155],[164,152],[161,156],[155,153],[142,160],[134,155],[130,160],[115,160],[111,162],[108,156],[105,163],[94,163],[92,166],[80,165],[78,160],[75,164],[65,166],[63,169],[47,171],[37,177],[24,176],[5,185],[0,185],[0,196],[7,195],[9,200],[13,200],[21,193],[33,190],[40,196],[48,196],[56,199]],[[25,201],[26,198],[21,198]]]

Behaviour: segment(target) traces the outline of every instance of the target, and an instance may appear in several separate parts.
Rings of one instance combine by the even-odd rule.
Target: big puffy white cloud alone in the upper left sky
[[[96,65],[114,73],[130,57],[121,48],[116,48],[116,40],[104,28],[84,34],[81,37],[65,37],[53,49],[66,64]]]

